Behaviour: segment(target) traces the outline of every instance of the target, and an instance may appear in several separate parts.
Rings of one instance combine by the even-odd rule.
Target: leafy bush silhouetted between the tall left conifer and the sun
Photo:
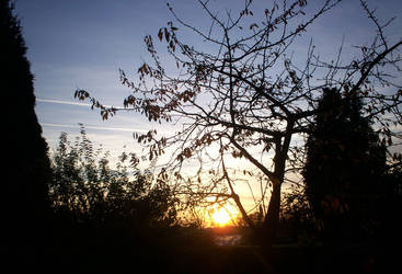
[[[135,153],[123,152],[111,168],[108,153],[94,149],[85,130],[73,144],[60,135],[53,155],[49,196],[56,215],[73,226],[138,232],[176,222],[171,190],[141,172]]]

